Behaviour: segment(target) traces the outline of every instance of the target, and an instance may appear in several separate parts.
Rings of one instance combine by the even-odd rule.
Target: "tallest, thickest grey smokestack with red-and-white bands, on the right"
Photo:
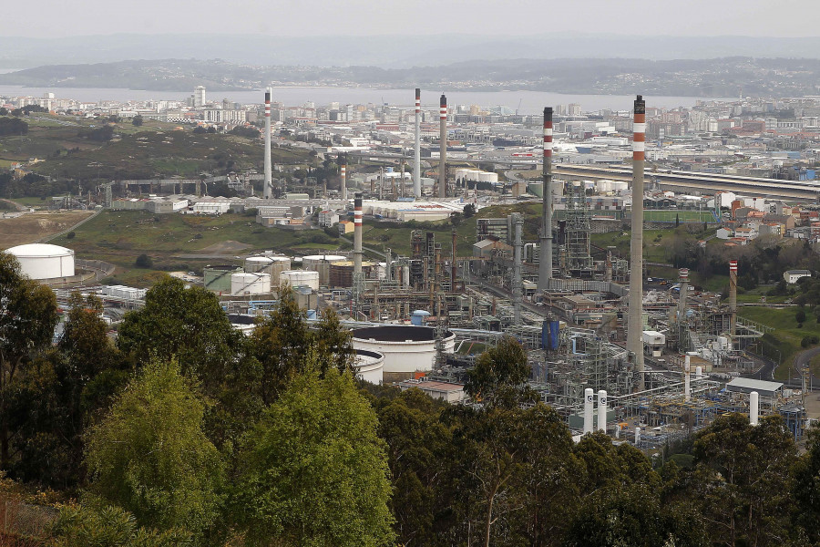
[[[632,238],[630,242],[630,298],[627,351],[632,359],[637,387],[643,377],[643,167],[646,144],[646,101],[635,99],[632,125]]]

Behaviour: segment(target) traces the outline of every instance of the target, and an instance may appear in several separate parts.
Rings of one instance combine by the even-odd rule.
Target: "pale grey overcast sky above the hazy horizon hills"
[[[5,36],[609,33],[818,36],[820,0],[39,0]]]

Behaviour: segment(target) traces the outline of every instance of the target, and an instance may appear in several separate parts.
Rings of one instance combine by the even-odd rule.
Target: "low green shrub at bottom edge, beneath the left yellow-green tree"
[[[51,528],[48,547],[185,547],[190,534],[141,528],[134,515],[116,506],[64,505]]]

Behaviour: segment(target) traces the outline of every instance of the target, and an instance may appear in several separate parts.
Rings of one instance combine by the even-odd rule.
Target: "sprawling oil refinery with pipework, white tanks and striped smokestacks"
[[[476,212],[487,204],[479,189],[497,182],[496,172],[451,165],[446,96],[439,98],[437,157],[428,156],[425,169],[423,133],[436,139],[429,136],[432,124],[422,123],[421,90],[415,89],[414,142],[406,165],[412,161],[412,169],[405,172],[404,159],[355,145],[329,147],[324,155],[339,167],[333,181],[338,186],[314,181],[310,194],[282,192],[273,179],[271,101],[268,90],[264,173],[237,175],[235,181],[236,188],[248,190],[252,181],[261,180],[261,195],[251,190],[232,201],[190,200],[195,202],[179,209],[197,204],[196,212],[204,213],[253,208],[263,225],[290,222],[297,211],[314,213],[323,226],[338,226],[352,251],[261,253],[245,257],[241,265],[206,267],[200,283],[220,296],[237,328],[251,330],[254,320],[276,305],[279,287],[289,284],[309,321],[328,307],[343,317],[343,325],[353,331],[356,369],[368,381],[419,387],[433,397],[461,401],[466,372],[480,350],[511,336],[528,351],[529,386],[579,435],[601,429],[641,448],[658,448],[734,411],[748,414],[752,423],[780,414],[795,438],[803,436],[805,386],[793,389],[771,381],[770,371],[767,379],[764,363],[748,351],[766,328],[737,316],[736,261],[730,263],[725,299],[693,291],[685,268],[672,284],[644,285],[647,219],[641,197],[647,180],[658,182],[645,172],[647,121],[641,96],[629,109],[630,130],[620,131],[629,137],[618,138],[630,143],[629,171],[590,177],[554,163],[553,108],[544,108],[541,180],[520,192],[533,192],[537,227],[527,230],[525,215],[516,211],[478,218],[468,242],[455,227],[450,233],[405,229],[410,249],[405,254],[365,248],[364,220],[395,222],[401,230],[402,222],[443,221],[467,207]],[[357,172],[364,157],[381,160],[384,167],[378,174]],[[528,161],[538,164],[538,159]],[[593,214],[590,179],[592,186],[610,189],[613,200],[626,201],[621,218]],[[162,186],[161,181],[120,183],[126,191],[146,195]],[[168,193],[183,194],[187,183],[169,182],[174,186]],[[200,183],[207,181],[190,182],[188,190],[199,193]],[[515,205],[518,197],[504,202]],[[131,196],[120,198],[119,205],[125,209],[125,201],[174,199],[184,198]],[[117,207],[114,201],[108,205]],[[169,207],[173,210],[173,204]],[[594,248],[591,235],[607,222],[620,229],[630,226],[628,255]],[[470,252],[459,253],[465,243]],[[42,269],[46,277],[74,275],[73,253],[40,246],[12,251],[25,267]],[[99,293],[116,301],[117,296]],[[128,305],[138,305],[139,298],[133,295]]]

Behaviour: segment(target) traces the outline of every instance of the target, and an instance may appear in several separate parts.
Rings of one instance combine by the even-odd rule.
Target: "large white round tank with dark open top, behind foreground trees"
[[[429,371],[436,364],[436,329],[428,326],[384,325],[353,331],[354,349],[384,355],[384,381],[395,382],[413,377],[416,371]],[[453,353],[456,335],[447,331],[444,350]]]

